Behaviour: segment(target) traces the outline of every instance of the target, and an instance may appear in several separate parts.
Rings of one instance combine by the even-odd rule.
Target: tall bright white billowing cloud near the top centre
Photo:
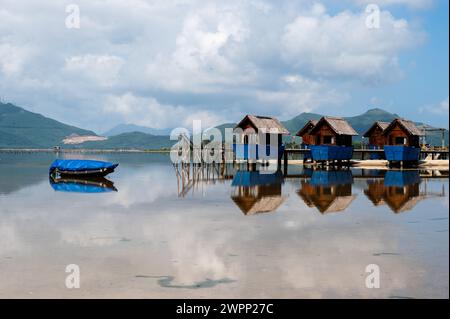
[[[148,63],[149,80],[163,89],[194,92],[248,84],[255,80],[253,66],[241,56],[248,36],[246,20],[236,6],[193,10],[176,36],[175,50]]]

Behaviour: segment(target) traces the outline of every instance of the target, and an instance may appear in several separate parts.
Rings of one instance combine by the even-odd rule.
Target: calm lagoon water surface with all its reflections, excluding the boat
[[[78,154],[120,166],[51,185],[55,156],[0,152],[1,298],[449,297],[448,177],[291,166],[200,181],[167,155]]]

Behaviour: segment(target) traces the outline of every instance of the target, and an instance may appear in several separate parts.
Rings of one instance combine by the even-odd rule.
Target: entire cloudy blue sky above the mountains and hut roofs
[[[0,99],[97,133],[374,107],[448,128],[448,6],[0,0]]]

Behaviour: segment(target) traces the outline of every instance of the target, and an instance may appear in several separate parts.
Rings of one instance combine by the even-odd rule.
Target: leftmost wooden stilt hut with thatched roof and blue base
[[[234,128],[233,150],[236,159],[280,159],[284,152],[283,135],[289,131],[276,118],[247,115]],[[274,156],[277,155],[277,156]]]

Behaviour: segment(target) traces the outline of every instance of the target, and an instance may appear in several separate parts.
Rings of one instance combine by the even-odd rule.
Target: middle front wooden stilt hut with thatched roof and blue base
[[[309,134],[314,138],[314,145],[311,146],[314,161],[340,161],[352,158],[352,137],[358,133],[344,119],[322,117]]]

